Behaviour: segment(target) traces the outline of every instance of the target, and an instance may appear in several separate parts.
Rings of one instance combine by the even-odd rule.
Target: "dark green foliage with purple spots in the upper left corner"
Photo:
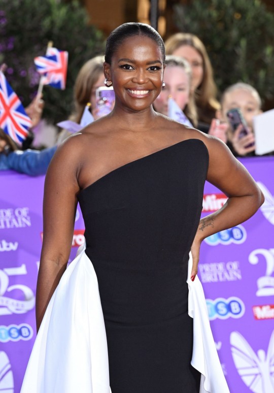
[[[104,53],[102,35],[88,25],[86,11],[76,1],[0,0],[0,64],[8,65],[5,75],[24,106],[36,95],[40,79],[33,59],[45,55],[49,41],[68,51],[65,90],[43,90],[43,117],[56,123],[72,110],[73,86],[84,62]]]

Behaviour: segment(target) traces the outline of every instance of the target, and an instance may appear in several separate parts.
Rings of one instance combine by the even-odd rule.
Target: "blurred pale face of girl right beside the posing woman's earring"
[[[164,82],[165,88],[154,102],[156,111],[167,116],[169,97],[172,97],[177,105],[184,110],[190,93],[190,80],[186,71],[178,65],[167,65],[164,71]]]

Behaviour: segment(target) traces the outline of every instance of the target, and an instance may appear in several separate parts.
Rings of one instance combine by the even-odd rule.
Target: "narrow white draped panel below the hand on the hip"
[[[201,373],[200,393],[229,393],[214,338],[207,303],[198,276],[191,281],[192,255],[188,261],[188,314],[193,318],[191,365]]]

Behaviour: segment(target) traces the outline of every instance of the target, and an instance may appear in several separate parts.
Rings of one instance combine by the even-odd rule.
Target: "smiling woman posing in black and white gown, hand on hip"
[[[104,313],[112,393],[199,391],[201,375],[190,365],[193,321],[188,315],[186,283],[189,251],[193,265],[188,282],[194,285],[198,283],[195,276],[201,241],[248,219],[263,196],[223,143],[153,110],[162,89],[164,57],[164,44],[152,27],[141,23],[117,27],[107,40],[104,63],[106,85],[115,90],[115,107],[109,115],[68,138],[48,169],[37,326],[39,329],[50,298],[54,306],[59,294],[62,307],[47,310],[41,332],[48,325],[58,330],[61,324],[62,329],[58,337],[53,334],[44,340],[39,332],[37,338],[41,351],[47,352],[48,345],[53,348],[52,356],[46,359],[48,374],[44,379],[39,368],[37,373],[27,373],[28,380],[42,378],[44,384],[50,377],[51,389],[43,387],[42,391],[77,391],[71,388],[76,379],[81,393],[108,391],[106,384],[102,388],[104,370],[94,373],[100,348],[97,341],[90,344],[95,333],[100,335],[102,330],[90,331],[89,336],[92,328],[83,322],[89,309],[82,303],[86,304],[87,297],[90,300],[91,289],[85,278],[92,265]],[[229,198],[222,209],[200,220],[205,179]],[[71,265],[65,270],[78,200],[86,227],[83,257],[90,260],[87,258],[84,268],[81,260],[79,265],[72,263],[77,270],[76,281],[64,293],[58,288],[67,287]],[[81,301],[77,300],[79,293]],[[64,312],[70,300],[71,308]],[[80,314],[79,308],[83,311]],[[71,324],[62,318],[72,318]],[[71,340],[72,329],[78,332],[75,340]],[[86,353],[89,350],[91,357],[95,352],[93,363]],[[38,351],[32,366],[41,357]],[[67,361],[73,363],[71,372],[63,369]],[[40,391],[27,387],[24,384],[27,393]]]

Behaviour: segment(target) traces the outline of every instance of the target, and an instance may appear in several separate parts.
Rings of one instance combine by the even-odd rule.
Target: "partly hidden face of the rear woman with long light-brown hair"
[[[190,45],[182,45],[173,52],[174,56],[184,57],[192,69],[192,87],[195,90],[203,78],[203,59],[199,52]]]

